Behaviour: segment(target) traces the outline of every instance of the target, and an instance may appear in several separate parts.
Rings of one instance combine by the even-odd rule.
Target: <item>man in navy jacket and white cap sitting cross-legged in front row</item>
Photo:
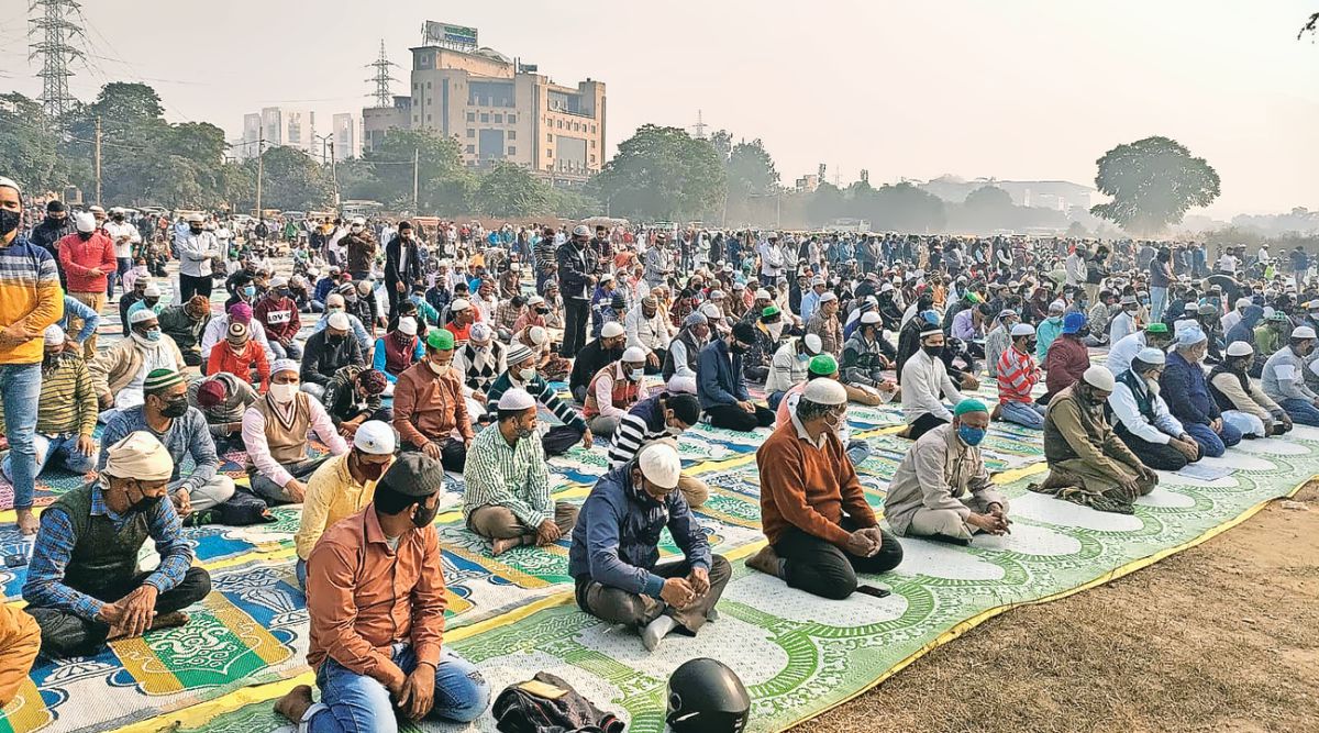
[[[596,483],[572,529],[568,573],[578,606],[637,629],[650,651],[673,630],[695,635],[715,617],[732,576],[677,490],[681,476],[677,448],[649,443]],[[661,566],[657,544],[666,526],[685,559]]]

